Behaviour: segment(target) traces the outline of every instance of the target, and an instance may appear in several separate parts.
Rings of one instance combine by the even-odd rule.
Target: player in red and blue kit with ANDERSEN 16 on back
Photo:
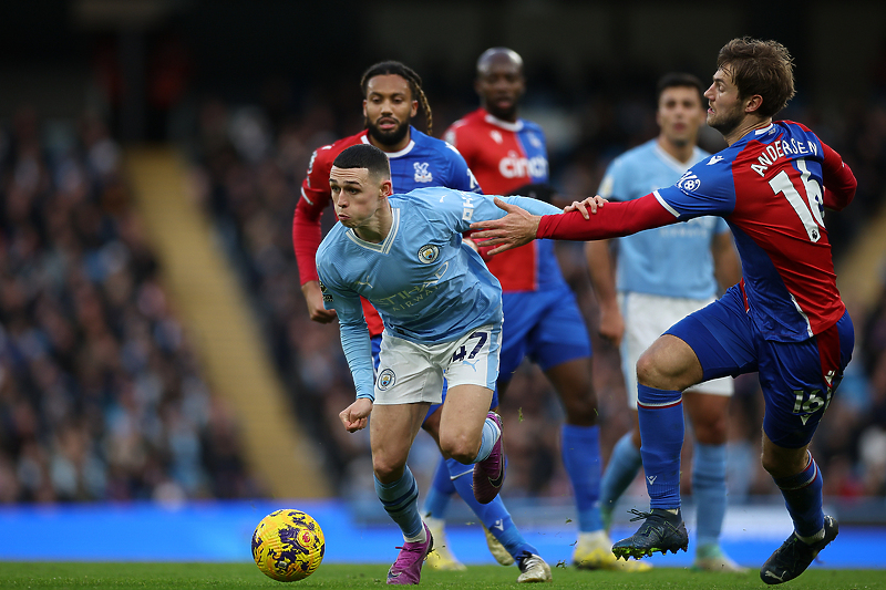
[[[575,204],[578,211],[508,215],[474,224],[492,252],[535,238],[599,239],[703,216],[732,229],[744,278],[671,327],[637,362],[638,414],[650,511],[615,544],[641,558],[687,549],[680,513],[682,392],[756,371],[763,390],[763,467],[781,489],[794,531],[760,569],[775,584],[803,573],[839,531],[822,508],[822,474],[810,442],[852,359],[855,333],[836,287],[825,209],[841,210],[857,183],[839,154],[811,130],[773,121],[794,95],[793,58],[776,41],[733,39],[705,91],[708,125],[728,147],[673,186],[628,203]],[[590,211],[590,214],[588,213]]]

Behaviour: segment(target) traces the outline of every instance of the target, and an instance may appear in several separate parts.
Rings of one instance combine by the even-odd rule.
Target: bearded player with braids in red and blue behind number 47
[[[422,90],[421,77],[406,65],[396,61],[384,61],[370,66],[363,74],[360,86],[363,90],[363,115],[367,128],[356,135],[320,147],[313,153],[308,167],[308,175],[301,186],[301,199],[296,206],[292,221],[292,242],[301,280],[301,290],[308,306],[311,320],[329,323],[336,319],[333,310],[323,309],[323,298],[317,278],[315,257],[321,240],[321,216],[332,200],[329,187],[329,172],[332,162],[346,148],[368,143],[379,147],[388,155],[391,163],[393,188],[396,194],[405,194],[414,188],[426,186],[445,186],[466,192],[480,192],[476,179],[471,174],[464,158],[446,142],[431,137],[412,126],[412,120],[419,108],[424,112],[427,133],[432,132],[432,111],[427,97]],[[379,350],[383,325],[375,309],[363,300],[363,313],[369,325],[372,341],[372,354],[378,366]],[[444,386],[445,397],[445,386]],[[493,408],[498,406],[497,394],[493,396]],[[425,429],[436,438],[440,421],[440,404],[435,404],[427,413]],[[514,562],[516,556],[529,550],[528,546],[514,525],[502,499],[496,497],[492,503],[481,505],[471,489],[471,478],[452,483],[447,464],[463,473],[465,466],[454,459],[441,462],[441,466],[432,480],[433,486],[443,486],[445,494],[457,491],[474,510],[484,526],[492,528],[492,549],[498,559]],[[467,467],[470,470],[470,467]],[[462,485],[464,484],[464,485]],[[453,556],[442,520],[425,516],[425,522],[435,539],[435,550],[427,559],[429,566],[435,569],[463,570],[464,565]],[[498,542],[497,538],[502,539]]]

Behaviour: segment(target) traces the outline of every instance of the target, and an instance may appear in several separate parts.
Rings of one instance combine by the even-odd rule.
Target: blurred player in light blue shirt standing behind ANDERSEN
[[[703,91],[701,81],[690,74],[671,73],[659,81],[658,137],[609,165],[600,196],[620,201],[642,197],[674,184],[690,166],[710,156],[696,145],[704,124]],[[637,360],[668,328],[713,301],[718,282],[722,291],[741,279],[732,232],[719,217],[697,217],[680,226],[641,231],[619,238],[617,245],[615,272],[609,240],[589,241],[585,247],[600,306],[600,337],[620,344],[633,420],[633,428],[616,444],[602,476],[600,510],[607,529],[616,500],[642,466]],[[698,519],[694,566],[711,571],[743,571],[720,548],[732,392],[732,377],[721,377],[690,387],[683,395],[697,442],[692,455],[692,498]]]

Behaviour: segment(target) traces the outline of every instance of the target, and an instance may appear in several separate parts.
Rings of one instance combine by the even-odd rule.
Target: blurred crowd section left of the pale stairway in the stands
[[[0,503],[254,494],[104,122],[0,131]]]

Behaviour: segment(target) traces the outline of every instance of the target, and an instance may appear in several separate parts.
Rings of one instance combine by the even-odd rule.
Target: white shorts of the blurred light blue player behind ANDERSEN
[[[658,337],[690,313],[713,301],[662,297],[648,293],[619,293],[618,307],[625,318],[625,337],[621,339],[621,370],[628,390],[628,405],[637,408],[637,361]],[[693,385],[686,391],[732,395],[732,377],[720,377]]]

